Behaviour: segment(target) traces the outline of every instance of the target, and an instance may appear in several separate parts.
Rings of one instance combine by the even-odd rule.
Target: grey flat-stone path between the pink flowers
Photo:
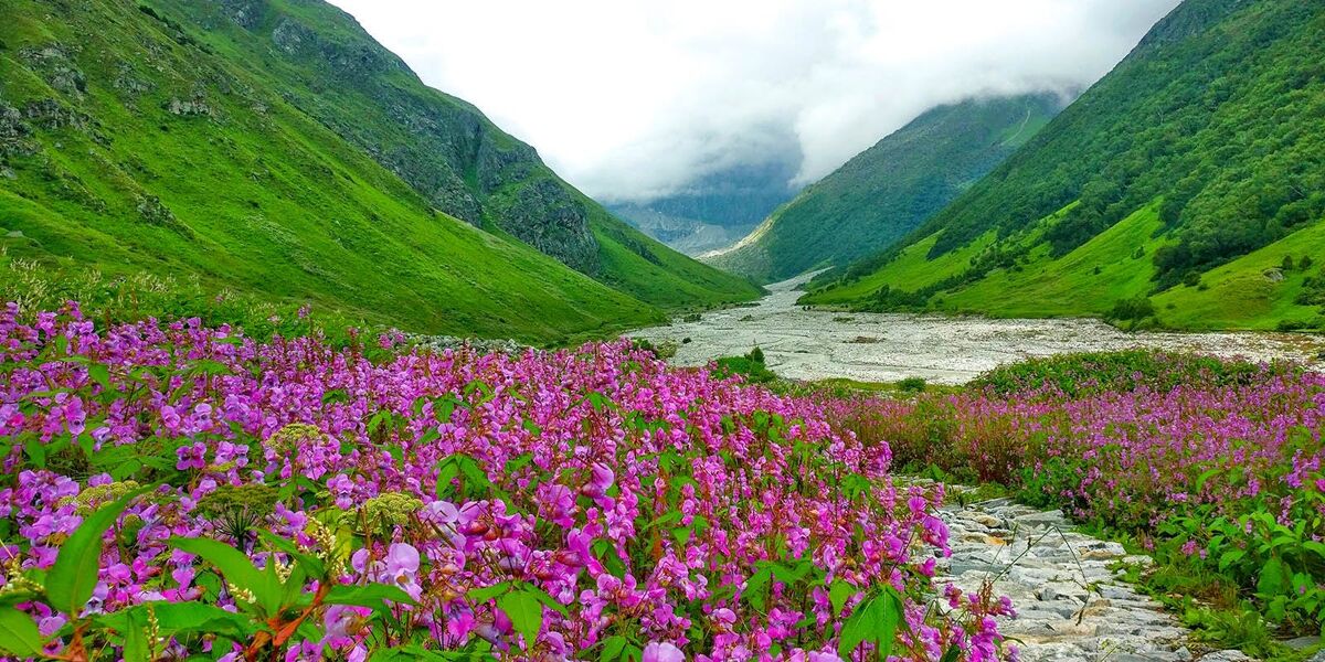
[[[995,594],[1012,598],[1016,617],[1002,632],[1023,643],[1020,659],[1113,662],[1236,662],[1239,651],[1198,655],[1190,632],[1159,602],[1109,567],[1149,564],[1118,543],[1073,531],[1061,511],[995,499],[945,506],[953,556],[941,559],[935,585],[978,591],[992,577]]]

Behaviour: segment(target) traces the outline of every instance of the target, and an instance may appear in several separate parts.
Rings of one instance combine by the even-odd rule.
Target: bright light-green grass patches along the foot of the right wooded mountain
[[[1072,205],[1044,218],[1020,237],[1000,246],[1024,249],[1012,266],[994,269],[982,278],[933,294],[926,310],[982,314],[998,318],[1106,316],[1121,301],[1151,298],[1155,323],[1165,328],[1320,330],[1318,306],[1297,302],[1308,277],[1318,277],[1325,263],[1325,222],[1310,224],[1265,248],[1199,274],[1191,283],[1155,293],[1155,252],[1173,244],[1158,216],[1161,200],[1137,209],[1061,257],[1051,256],[1039,237]],[[959,275],[982,250],[995,246],[986,234],[969,246],[933,260],[928,253],[937,234],[913,244],[882,269],[855,282],[841,282],[807,294],[814,305],[852,306],[881,286],[916,291]],[[1295,263],[1310,258],[1309,269],[1281,270],[1284,258]],[[1275,278],[1271,278],[1275,275]],[[1277,277],[1281,275],[1281,279]]]

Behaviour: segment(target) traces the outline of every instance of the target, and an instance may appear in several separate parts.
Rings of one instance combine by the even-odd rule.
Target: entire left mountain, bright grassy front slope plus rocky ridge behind
[[[0,228],[11,260],[427,332],[604,334],[758,295],[319,0],[5,3]]]

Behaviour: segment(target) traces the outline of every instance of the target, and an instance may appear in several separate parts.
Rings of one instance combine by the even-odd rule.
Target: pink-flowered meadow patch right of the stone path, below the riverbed
[[[1151,352],[1061,356],[959,391],[827,400],[894,471],[1063,508],[1196,636],[1261,658],[1325,624],[1325,376]]]

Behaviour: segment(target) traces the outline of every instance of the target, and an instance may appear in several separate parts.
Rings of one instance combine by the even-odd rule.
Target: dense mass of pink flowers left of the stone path
[[[339,585],[415,602],[370,628],[370,609],[323,605],[327,587],[309,581],[321,610],[297,621],[289,659],[421,646],[831,661],[872,654],[878,633],[859,649],[840,633],[882,592],[900,605],[893,657],[1000,654],[983,616],[996,605],[928,608],[933,555],[947,553],[941,493],[894,485],[888,446],[839,434],[810,400],[670,369],[627,342],[375,351],[196,320],[97,328],[76,307],[29,323],[11,306],[7,553],[49,568],[89,508],[132,481],[158,487],[107,534],[85,614],[253,600],[167,544],[179,538],[225,542],[281,581],[302,576],[303,549]],[[53,650],[68,645],[69,614],[24,609]],[[213,639],[162,645],[183,655]],[[215,653],[241,650],[229,646]]]

